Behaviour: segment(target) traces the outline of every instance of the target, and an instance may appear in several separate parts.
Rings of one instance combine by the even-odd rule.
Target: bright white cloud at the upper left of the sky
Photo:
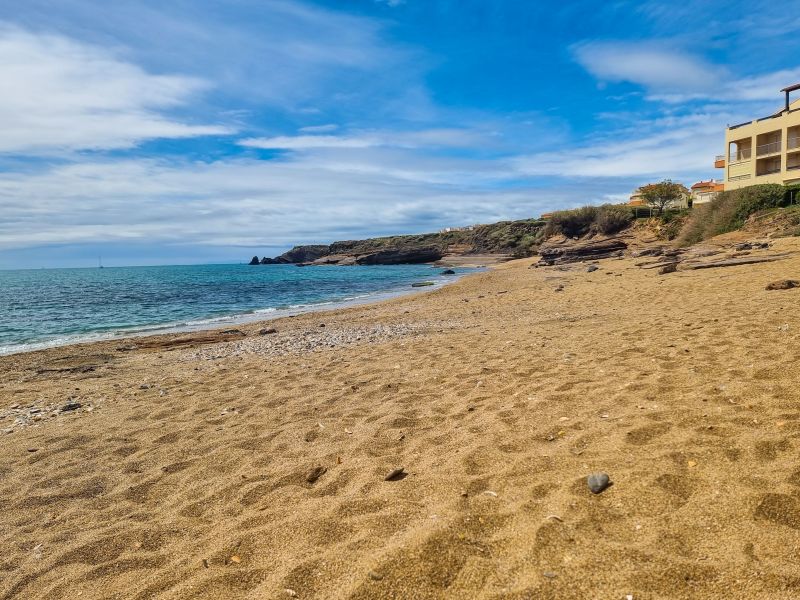
[[[126,148],[231,133],[167,116],[206,84],[153,75],[97,47],[0,27],[0,152]]]

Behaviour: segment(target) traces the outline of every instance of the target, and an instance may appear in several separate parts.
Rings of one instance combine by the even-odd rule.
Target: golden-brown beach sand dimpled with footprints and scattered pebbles
[[[772,251],[0,358],[0,596],[798,598],[800,289],[765,287],[800,240]]]

